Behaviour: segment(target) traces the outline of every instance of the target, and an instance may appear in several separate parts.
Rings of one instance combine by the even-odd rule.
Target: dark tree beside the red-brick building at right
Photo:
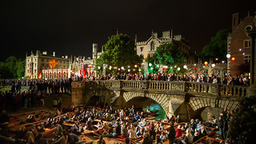
[[[202,48],[201,56],[204,58],[226,58],[227,37],[229,30],[219,30],[216,35],[210,39],[210,43]]]

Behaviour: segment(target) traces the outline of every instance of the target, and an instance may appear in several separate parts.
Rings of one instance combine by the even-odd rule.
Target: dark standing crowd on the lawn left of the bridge
[[[1,86],[11,86],[11,89],[0,91],[0,110],[16,111],[20,107],[43,106],[46,94],[70,93],[71,82],[72,79],[2,79]]]

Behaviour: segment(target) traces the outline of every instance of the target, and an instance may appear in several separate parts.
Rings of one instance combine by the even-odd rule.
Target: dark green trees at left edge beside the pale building
[[[0,78],[22,78],[25,73],[26,61],[11,56],[0,62]]]

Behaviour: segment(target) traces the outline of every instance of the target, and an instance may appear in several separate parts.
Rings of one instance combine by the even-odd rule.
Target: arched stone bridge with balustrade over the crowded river
[[[194,118],[206,107],[234,110],[239,97],[249,95],[248,86],[230,86],[202,82],[166,81],[90,81],[72,82],[73,105],[88,103],[93,96],[105,99],[109,106],[123,108],[136,97],[158,102],[168,116],[179,114]]]

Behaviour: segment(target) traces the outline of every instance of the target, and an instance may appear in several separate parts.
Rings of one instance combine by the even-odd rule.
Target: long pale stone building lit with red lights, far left
[[[103,49],[102,49],[103,52]],[[29,78],[70,78],[74,76],[90,76],[95,75],[94,66],[96,59],[102,54],[98,52],[98,45],[93,44],[93,58],[57,57],[55,52],[47,54],[47,52],[31,51],[30,56],[26,54],[25,77]]]

